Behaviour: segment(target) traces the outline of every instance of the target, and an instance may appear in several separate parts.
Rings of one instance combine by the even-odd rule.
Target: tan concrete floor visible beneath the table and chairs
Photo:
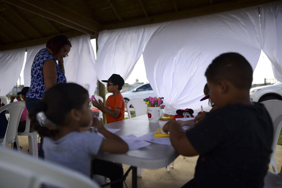
[[[23,147],[21,152],[28,153],[28,137],[19,136],[20,146]],[[7,145],[11,147],[11,145]],[[137,178],[138,188],[171,188],[181,187],[194,176],[194,169],[196,166],[198,156],[184,158],[182,155],[177,157],[174,161],[174,169],[170,167],[170,171],[167,172],[165,167],[159,169],[143,169],[143,176]],[[282,146],[277,145],[275,151],[275,159],[278,172],[281,170],[282,165]],[[128,165],[124,165],[125,171],[129,168]],[[269,168],[272,170],[272,167]],[[125,180],[127,187],[131,187],[131,172]],[[124,186],[125,187],[125,186]],[[108,186],[110,188],[110,186]]]

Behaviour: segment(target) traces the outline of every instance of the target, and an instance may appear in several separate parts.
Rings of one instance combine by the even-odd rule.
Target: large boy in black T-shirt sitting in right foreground
[[[183,187],[262,188],[273,125],[263,104],[250,101],[251,65],[238,53],[224,53],[212,61],[205,76],[218,109],[186,132],[176,121],[163,127],[179,154],[199,154],[194,179]]]

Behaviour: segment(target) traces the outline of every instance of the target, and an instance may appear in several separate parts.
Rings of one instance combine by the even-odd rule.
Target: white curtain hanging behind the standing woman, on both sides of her
[[[65,75],[67,82],[75,82],[85,87],[92,95],[96,89],[97,76],[95,71],[95,57],[90,35],[81,35],[70,38],[72,48],[69,56],[64,58]],[[30,86],[31,65],[36,53],[45,48],[46,44],[27,48],[26,65],[24,68],[25,86]]]

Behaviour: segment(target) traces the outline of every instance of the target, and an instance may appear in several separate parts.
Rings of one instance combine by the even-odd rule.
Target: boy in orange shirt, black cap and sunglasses
[[[108,80],[102,80],[102,82],[107,82],[107,90],[110,95],[106,101],[106,106],[102,101],[97,101],[94,99],[92,102],[93,106],[101,110],[106,114],[107,123],[113,123],[116,121],[121,121],[124,119],[124,100],[123,96],[120,94],[120,90],[124,85],[124,80],[119,74],[112,74]]]

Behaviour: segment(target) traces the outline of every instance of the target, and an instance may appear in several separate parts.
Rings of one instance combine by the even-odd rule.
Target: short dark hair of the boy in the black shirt
[[[213,83],[226,79],[238,89],[251,89],[253,69],[245,57],[229,52],[217,56],[205,72],[207,80]]]

